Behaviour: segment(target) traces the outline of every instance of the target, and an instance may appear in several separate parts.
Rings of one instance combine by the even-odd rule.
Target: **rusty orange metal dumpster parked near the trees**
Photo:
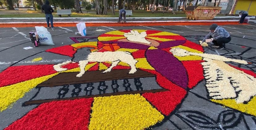
[[[192,20],[211,20],[220,13],[222,7],[214,6],[188,6],[184,12],[187,19]]]

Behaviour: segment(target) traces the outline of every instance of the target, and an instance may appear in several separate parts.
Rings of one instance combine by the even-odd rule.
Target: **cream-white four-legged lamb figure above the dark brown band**
[[[78,49],[75,53],[74,58],[71,59],[71,61],[66,61],[61,64],[54,65],[53,68],[60,72],[65,71],[67,68],[62,68],[61,66],[69,64],[73,61],[79,62],[80,67],[80,73],[76,75],[76,77],[81,77],[85,73],[85,66],[88,64],[88,62],[112,62],[112,65],[103,71],[102,73],[110,72],[111,69],[117,64],[122,61],[124,63],[127,63],[130,65],[131,70],[129,71],[129,74],[135,73],[137,71],[135,64],[138,62],[135,60],[130,52],[122,52],[122,51],[116,51],[116,52],[89,52],[90,48],[83,48]]]

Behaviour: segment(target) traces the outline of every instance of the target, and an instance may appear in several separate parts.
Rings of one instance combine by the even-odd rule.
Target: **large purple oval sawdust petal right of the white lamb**
[[[185,67],[173,55],[161,49],[146,51],[149,64],[173,83],[187,88],[188,77]]]

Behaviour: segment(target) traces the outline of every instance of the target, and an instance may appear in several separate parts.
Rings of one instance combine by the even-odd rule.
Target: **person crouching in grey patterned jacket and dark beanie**
[[[224,48],[224,44],[230,42],[231,37],[224,28],[218,26],[217,24],[212,24],[210,26],[210,32],[207,36],[204,37],[202,42],[205,42],[206,39],[211,38],[212,43],[214,43],[213,47],[218,47],[219,50]]]

